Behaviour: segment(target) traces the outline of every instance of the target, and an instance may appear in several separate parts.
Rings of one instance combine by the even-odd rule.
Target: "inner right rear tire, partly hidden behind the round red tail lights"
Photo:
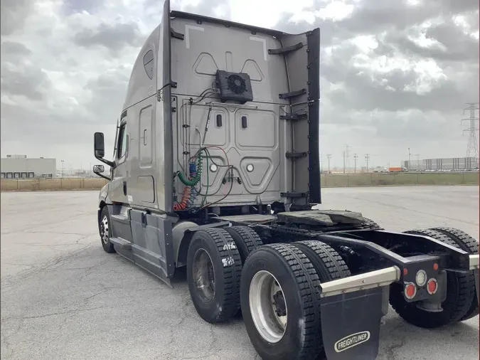
[[[446,235],[433,230],[404,231],[415,235],[426,235],[452,246],[458,245]],[[447,271],[447,297],[442,302],[442,312],[427,312],[419,309],[415,302],[406,302],[402,295],[401,284],[394,283],[390,290],[390,305],[397,314],[412,325],[433,329],[443,327],[452,322],[458,322],[471,306],[474,294],[471,292],[473,275]]]

